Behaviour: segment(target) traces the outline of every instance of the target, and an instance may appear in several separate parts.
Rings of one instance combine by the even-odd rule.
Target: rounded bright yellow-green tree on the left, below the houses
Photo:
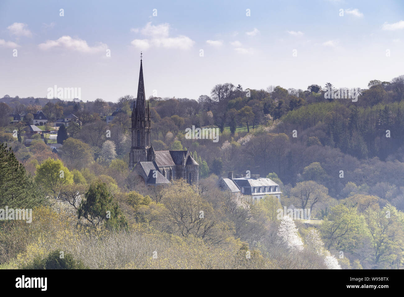
[[[61,187],[73,183],[73,174],[61,160],[48,158],[36,169],[35,181],[44,192],[57,198]]]

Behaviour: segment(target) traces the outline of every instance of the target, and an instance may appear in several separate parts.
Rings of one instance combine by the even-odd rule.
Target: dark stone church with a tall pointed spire
[[[146,106],[142,59],[131,122],[132,147],[129,153],[129,168],[137,173],[146,186],[166,185],[173,179],[181,178],[189,184],[198,183],[199,164],[188,150],[156,151],[150,143],[151,117],[149,103]]]

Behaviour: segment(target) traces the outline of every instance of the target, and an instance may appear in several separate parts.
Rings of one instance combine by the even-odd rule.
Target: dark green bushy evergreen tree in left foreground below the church
[[[128,223],[119,206],[113,201],[105,183],[95,181],[84,195],[78,209],[78,219],[86,219],[93,227],[101,224],[107,229],[126,228]]]

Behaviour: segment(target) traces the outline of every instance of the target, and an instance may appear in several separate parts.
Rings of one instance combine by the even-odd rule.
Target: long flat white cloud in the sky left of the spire
[[[44,43],[38,44],[38,47],[42,50],[48,50],[54,47],[61,47],[82,53],[97,53],[107,50],[107,45],[105,43],[99,42],[97,46],[89,46],[86,40],[82,40],[79,38],[75,39],[70,36],[62,36],[57,40],[47,40]]]

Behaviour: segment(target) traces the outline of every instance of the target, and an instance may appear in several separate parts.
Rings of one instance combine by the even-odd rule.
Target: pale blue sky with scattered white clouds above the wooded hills
[[[366,88],[404,74],[404,1],[0,0],[1,97],[136,96],[140,51],[147,98]]]

